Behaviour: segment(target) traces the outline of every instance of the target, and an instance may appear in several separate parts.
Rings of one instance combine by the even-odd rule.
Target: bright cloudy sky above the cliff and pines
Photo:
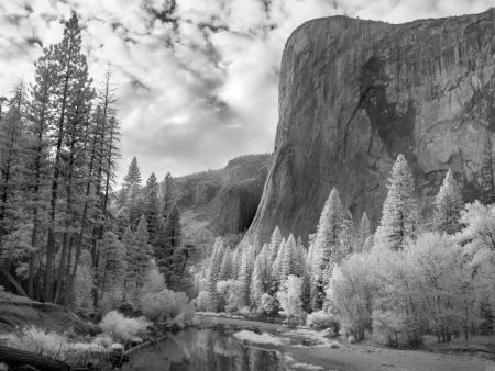
[[[271,153],[282,53],[321,16],[402,23],[479,13],[495,0],[0,0],[0,95],[31,81],[42,48],[80,18],[96,81],[107,66],[120,99],[120,177],[133,156],[143,178],[223,167]]]

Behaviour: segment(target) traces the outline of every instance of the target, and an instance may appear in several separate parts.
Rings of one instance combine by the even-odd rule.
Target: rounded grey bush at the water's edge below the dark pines
[[[156,322],[168,322],[184,327],[195,317],[194,307],[184,292],[164,289],[157,293],[143,294],[140,304],[141,312]]]

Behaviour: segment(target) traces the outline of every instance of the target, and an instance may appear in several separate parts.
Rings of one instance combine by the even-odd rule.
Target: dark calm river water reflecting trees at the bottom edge
[[[136,351],[123,370],[277,371],[286,368],[276,350],[244,346],[221,330],[188,328]]]

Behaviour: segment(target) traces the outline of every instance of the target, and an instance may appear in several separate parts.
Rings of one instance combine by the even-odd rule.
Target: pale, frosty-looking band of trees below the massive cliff
[[[487,140],[488,142],[488,140]],[[491,334],[495,305],[495,205],[493,156],[485,148],[483,203],[464,204],[448,171],[433,215],[418,212],[415,180],[403,155],[392,169],[376,233],[364,213],[354,225],[332,189],[309,248],[300,237],[270,244],[218,239],[197,277],[197,305],[205,311],[286,317],[319,324],[362,340],[366,331],[388,345],[421,344]]]

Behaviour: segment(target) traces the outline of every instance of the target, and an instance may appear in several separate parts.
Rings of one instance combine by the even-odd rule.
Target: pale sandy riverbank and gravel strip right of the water
[[[202,315],[201,317],[202,323],[208,325],[239,326],[282,338],[290,335],[289,329],[277,324],[210,315]],[[301,346],[292,344],[287,344],[284,347],[276,344],[272,346],[284,353],[288,353],[297,362],[320,367],[324,370],[495,371],[495,362],[482,357],[481,353],[446,353],[449,351],[448,349],[442,349],[442,352],[430,350],[398,350],[372,344],[349,345],[343,341],[340,341],[339,345],[340,348],[337,349],[329,346]]]

